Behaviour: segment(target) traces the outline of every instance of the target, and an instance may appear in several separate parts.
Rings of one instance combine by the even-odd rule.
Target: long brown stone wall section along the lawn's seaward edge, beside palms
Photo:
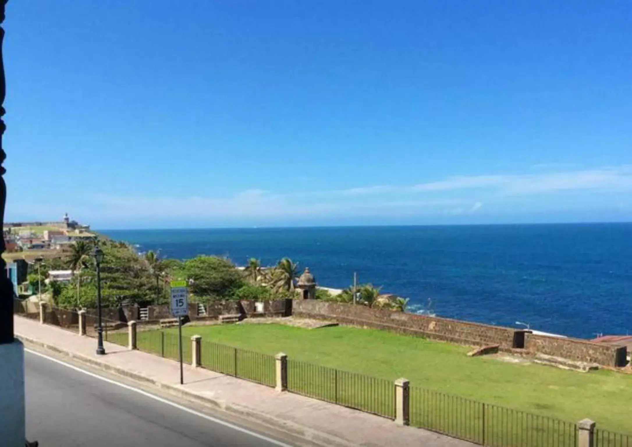
[[[293,315],[298,317],[331,319],[465,345],[500,345],[507,349],[516,347],[516,329],[501,326],[319,300],[295,300],[293,306]]]

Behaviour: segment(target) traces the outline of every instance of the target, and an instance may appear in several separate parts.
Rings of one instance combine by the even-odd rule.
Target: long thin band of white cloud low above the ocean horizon
[[[632,192],[632,166],[521,175],[451,176],[416,185],[374,185],[346,190],[276,193],[250,189],[223,197],[100,195],[76,203],[75,207],[70,206],[68,198],[59,197],[58,203],[55,199],[46,200],[46,207],[20,202],[16,208],[23,212],[28,209],[49,209],[51,214],[59,214],[61,209],[73,215],[81,214],[86,220],[104,221],[151,220],[169,216],[175,219],[217,221],[404,214],[440,216],[473,214],[482,209],[483,202],[492,204],[495,212],[502,212],[503,207],[511,211],[518,200],[513,199],[516,197],[533,195],[539,200],[554,192],[588,190],[602,192],[603,197],[611,197],[616,192]],[[551,197],[550,200],[559,200],[555,196]],[[617,200],[622,199],[618,197]],[[499,205],[502,202],[504,205]],[[625,200],[623,205],[630,206],[626,205]],[[590,204],[586,206],[590,207]],[[16,214],[16,208],[11,208],[11,218],[21,217]]]

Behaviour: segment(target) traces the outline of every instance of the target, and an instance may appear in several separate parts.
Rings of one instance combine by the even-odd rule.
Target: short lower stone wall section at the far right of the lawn
[[[627,362],[626,346],[591,343],[590,341],[577,338],[560,338],[527,333],[525,348],[531,352],[599,365],[623,367]]]

